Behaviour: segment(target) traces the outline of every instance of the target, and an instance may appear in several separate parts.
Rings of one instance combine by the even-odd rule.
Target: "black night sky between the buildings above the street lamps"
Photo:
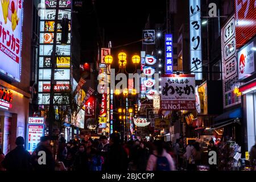
[[[85,50],[96,46],[97,27],[100,27],[105,30],[105,43],[112,41],[113,53],[123,50],[130,54],[139,54],[142,42],[125,47],[115,47],[142,39],[142,30],[147,22],[148,14],[150,14],[151,21],[155,23],[163,23],[166,14],[166,0],[155,2],[146,0],[95,0],[95,2],[96,11],[93,11],[92,1],[86,0],[80,17],[82,32],[88,32],[82,35],[82,40],[84,40],[82,41],[82,48]],[[90,36],[87,36],[88,34]]]

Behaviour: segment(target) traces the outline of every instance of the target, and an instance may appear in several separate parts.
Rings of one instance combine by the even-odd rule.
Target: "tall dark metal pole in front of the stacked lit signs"
[[[52,127],[53,122],[55,121],[55,110],[53,103],[53,94],[54,94],[54,75],[56,67],[56,43],[57,43],[57,24],[58,24],[58,15],[59,15],[59,2],[56,1],[56,13],[55,13],[55,24],[54,24],[54,33],[53,33],[53,47],[51,55],[51,88],[50,88],[50,98],[49,98],[49,118],[48,118],[48,131],[49,136],[52,136]]]

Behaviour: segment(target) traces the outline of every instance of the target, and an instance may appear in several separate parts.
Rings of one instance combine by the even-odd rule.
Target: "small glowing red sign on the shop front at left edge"
[[[13,105],[11,105],[11,101],[13,101],[13,92],[0,86],[0,107],[3,109],[13,107]]]

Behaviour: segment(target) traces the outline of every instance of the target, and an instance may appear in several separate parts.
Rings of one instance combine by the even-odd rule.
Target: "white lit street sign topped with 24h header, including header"
[[[44,118],[28,118],[27,151],[32,154],[44,135]]]

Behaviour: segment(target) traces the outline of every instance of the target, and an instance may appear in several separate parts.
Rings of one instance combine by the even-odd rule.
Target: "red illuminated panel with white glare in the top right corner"
[[[256,34],[255,0],[235,0],[237,48],[242,47]]]

